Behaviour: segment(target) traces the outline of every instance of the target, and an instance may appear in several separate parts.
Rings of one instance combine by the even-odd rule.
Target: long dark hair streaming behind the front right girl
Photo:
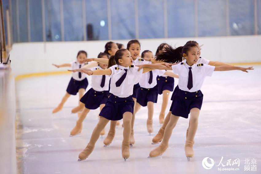
[[[156,54],[155,59],[168,63],[179,63],[182,61],[183,53],[188,54],[189,49],[194,46],[197,47],[197,45],[193,43],[187,43],[175,49],[169,46],[166,47],[163,52]]]

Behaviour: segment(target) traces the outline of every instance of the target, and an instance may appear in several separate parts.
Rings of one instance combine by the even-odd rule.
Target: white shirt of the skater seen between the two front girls
[[[144,64],[151,64],[151,61],[144,61]],[[142,77],[139,81],[139,85],[142,88],[153,88],[154,86],[157,85],[157,76],[162,76],[166,71],[165,70],[159,70],[159,69],[155,69],[152,70],[152,83],[149,84],[149,79],[150,79],[150,72],[144,73],[142,74]]]

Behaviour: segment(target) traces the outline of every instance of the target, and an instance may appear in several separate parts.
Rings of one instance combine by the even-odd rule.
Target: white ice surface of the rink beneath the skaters
[[[62,111],[52,114],[52,110],[65,94],[71,75],[16,81],[19,173],[261,173],[261,65],[254,65],[254,68],[249,73],[214,72],[212,77],[206,77],[201,89],[204,100],[193,147],[194,157],[190,161],[184,151],[189,119],[184,118],[180,118],[173,129],[166,152],[156,158],[147,158],[158,146],[152,145],[151,139],[160,128],[158,116],[162,95],[154,105],[152,135],[146,129],[147,108],[143,107],[137,113],[134,125],[136,143],[130,148],[130,158],[126,162],[121,155],[121,127],[116,128],[109,147],[103,147],[103,136],[87,160],[77,162],[78,154],[86,147],[98,122],[99,110],[92,110],[87,115],[81,134],[69,137],[78,119],[77,114],[70,114],[78,104],[78,96],[71,96]],[[90,82],[90,77],[88,79]],[[175,79],[175,86],[177,82]],[[169,100],[166,113],[170,105]],[[109,124],[106,135],[108,129]],[[213,159],[212,168],[203,168],[205,157]],[[235,164],[238,159],[239,166]],[[211,160],[208,159],[207,163]],[[219,171],[219,168],[234,171]]]

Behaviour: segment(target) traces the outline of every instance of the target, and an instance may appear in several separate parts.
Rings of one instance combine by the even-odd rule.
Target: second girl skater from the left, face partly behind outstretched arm
[[[98,58],[105,58],[108,59],[109,56],[106,53],[99,53]],[[82,72],[82,70],[86,71],[94,71],[96,69],[106,69],[107,64],[99,63],[99,66],[96,66],[91,69],[73,69],[69,70],[72,72]],[[88,90],[87,93],[84,94],[84,96],[80,99],[80,102],[85,105],[83,112],[80,114],[79,119],[76,121],[76,126],[72,129],[70,135],[76,135],[82,131],[83,128],[83,121],[89,111],[91,109],[97,109],[100,108],[100,110],[103,109],[105,106],[105,103],[109,97],[109,81],[110,77],[108,75],[97,75],[92,76],[92,88]],[[101,136],[105,134],[105,130],[101,132]]]

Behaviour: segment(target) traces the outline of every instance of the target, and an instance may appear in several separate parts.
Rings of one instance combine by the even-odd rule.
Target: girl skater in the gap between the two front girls
[[[141,54],[142,58],[145,60],[150,60],[153,58],[153,53],[150,50],[145,50]],[[151,64],[151,61],[145,61],[145,63]],[[148,133],[153,132],[153,112],[154,112],[154,103],[157,103],[158,100],[158,84],[157,84],[157,76],[171,76],[178,78],[177,74],[174,74],[169,71],[165,70],[152,70],[150,72],[142,74],[142,80],[139,82],[139,85],[141,86],[138,89],[138,97],[137,97],[137,103],[135,106],[135,113],[138,112],[141,106],[147,106],[148,107],[148,119],[147,119],[147,131]]]

